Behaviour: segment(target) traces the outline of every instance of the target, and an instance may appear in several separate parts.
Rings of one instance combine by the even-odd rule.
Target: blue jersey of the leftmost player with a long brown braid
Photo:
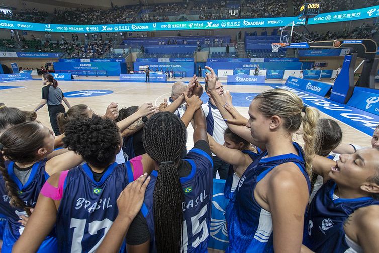
[[[15,163],[13,161],[5,161],[5,167],[8,171],[8,174],[16,183],[19,197],[24,201],[27,207],[35,207],[42,186],[49,178],[49,175],[45,171],[46,161],[47,160],[44,159],[34,163],[31,168],[32,171],[30,173],[29,179],[24,185],[20,182],[14,173]],[[22,215],[27,216],[27,213],[23,209],[14,208],[10,205],[9,202],[11,198],[8,196],[8,192],[5,187],[5,180],[2,174],[0,174],[0,193],[3,196],[3,201],[0,201],[0,213],[7,217],[4,224],[2,252],[7,252],[8,250],[10,252],[12,250],[13,244],[15,244],[17,239],[24,231],[24,226],[18,222],[20,220],[19,217]],[[45,241],[41,244],[39,252],[41,252],[42,248],[45,248],[45,250],[49,248],[49,246],[46,247],[45,243],[52,246],[51,251],[56,251],[57,249],[55,241],[56,236],[54,228],[49,236],[46,237]]]

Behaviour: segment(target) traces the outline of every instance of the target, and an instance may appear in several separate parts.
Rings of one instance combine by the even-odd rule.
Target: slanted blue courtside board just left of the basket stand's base
[[[311,92],[323,97],[332,88],[332,85],[330,85],[329,83],[300,79],[292,76],[290,76],[287,79],[286,85],[289,87],[301,89],[303,91]]]

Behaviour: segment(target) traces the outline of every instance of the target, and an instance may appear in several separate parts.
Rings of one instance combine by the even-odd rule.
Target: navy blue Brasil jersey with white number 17
[[[116,200],[131,181],[129,162],[111,164],[99,182],[86,163],[70,170],[57,212],[59,251],[96,251],[117,217]]]

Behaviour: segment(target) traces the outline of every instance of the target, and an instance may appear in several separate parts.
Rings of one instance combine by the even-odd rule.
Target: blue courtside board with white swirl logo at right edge
[[[355,87],[347,105],[379,115],[379,92],[374,89]]]

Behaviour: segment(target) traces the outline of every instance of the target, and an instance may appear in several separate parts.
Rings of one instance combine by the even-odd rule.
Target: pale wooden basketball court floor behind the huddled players
[[[64,93],[83,90],[110,90],[113,93],[102,96],[81,96],[67,97],[71,105],[86,104],[97,114],[104,114],[107,106],[111,102],[118,103],[119,109],[129,106],[139,106],[144,102],[151,102],[158,106],[163,102],[164,98],[169,98],[171,95],[171,86],[174,81],[183,81],[188,83],[190,78],[171,79],[170,83],[138,83],[138,82],[119,82],[118,77],[81,77],[80,80],[59,81],[59,87]],[[203,81],[203,78],[201,78]],[[226,82],[226,81],[225,81]],[[233,104],[236,108],[247,117],[248,104],[252,98],[243,100],[246,93],[260,93],[268,89],[272,89],[270,84],[282,84],[284,81],[267,81],[266,85],[224,85],[224,90],[230,90],[233,95]],[[43,87],[41,79],[33,81],[7,82],[0,83],[0,86],[21,86],[18,88],[8,88],[0,90],[0,102],[5,103],[8,107],[17,107],[22,110],[33,110],[41,100],[41,89]],[[241,96],[235,96],[239,95]],[[251,96],[249,96],[251,97]],[[203,95],[203,101],[206,100],[206,94]],[[243,103],[242,103],[243,102]],[[239,106],[239,104],[243,104]],[[67,108],[66,108],[67,110]],[[45,105],[38,112],[38,120],[51,128],[47,106]],[[330,115],[321,113],[321,117],[332,118]],[[333,119],[333,118],[332,118]],[[343,142],[354,143],[363,147],[371,146],[371,138],[369,135],[360,132],[353,127],[337,121],[343,131]],[[193,146],[191,138],[193,129],[188,127],[187,146]],[[294,135],[294,140],[303,143],[301,136]]]

